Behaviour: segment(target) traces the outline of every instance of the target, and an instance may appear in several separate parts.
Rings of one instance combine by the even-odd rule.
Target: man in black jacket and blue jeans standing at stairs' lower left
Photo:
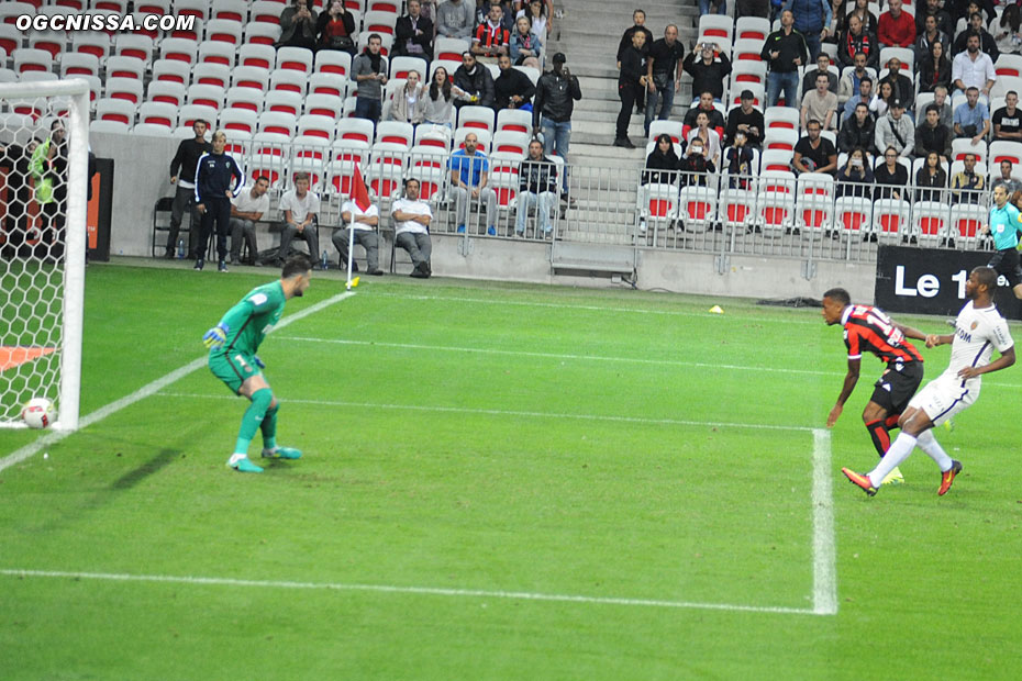
[[[538,135],[542,130],[543,154],[557,154],[565,161],[568,159],[568,148],[571,144],[571,112],[575,110],[575,102],[582,98],[578,78],[565,66],[566,60],[563,52],[558,52],[551,59],[554,68],[540,76],[536,99],[532,107],[532,132]],[[562,198],[567,197],[568,190],[567,170],[564,175]]]

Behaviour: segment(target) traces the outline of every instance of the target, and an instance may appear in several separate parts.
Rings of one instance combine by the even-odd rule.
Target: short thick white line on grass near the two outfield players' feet
[[[831,493],[831,433],[812,432],[812,610],[837,614],[837,562],[834,538],[834,500]]]

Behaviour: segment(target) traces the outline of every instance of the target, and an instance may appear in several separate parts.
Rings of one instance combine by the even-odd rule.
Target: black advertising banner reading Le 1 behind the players
[[[877,253],[876,305],[887,312],[955,316],[965,304],[965,281],[986,265],[992,250],[945,250],[880,246]],[[1022,301],[999,278],[995,302],[1009,320],[1022,320]],[[854,300],[854,299],[853,299]]]

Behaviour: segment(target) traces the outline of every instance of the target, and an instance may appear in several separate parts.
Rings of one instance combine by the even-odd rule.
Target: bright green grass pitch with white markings
[[[274,275],[89,269],[88,425],[0,431],[0,678],[1019,678],[1018,367],[936,433],[945,498],[920,451],[840,473],[878,361],[825,432],[840,330],[726,299],[364,279],[264,343],[306,456],[262,476],[204,366],[89,416]]]

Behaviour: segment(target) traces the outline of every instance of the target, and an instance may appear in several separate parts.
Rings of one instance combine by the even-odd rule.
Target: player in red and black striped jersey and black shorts
[[[877,454],[881,457],[890,447],[890,429],[915,394],[923,379],[923,358],[908,338],[926,339],[926,335],[911,326],[891,321],[887,314],[871,305],[853,305],[844,289],[831,289],[823,294],[823,320],[829,326],[844,327],[848,348],[848,372],[837,395],[837,403],[826,417],[826,427],[833,427],[841,416],[845,401],[858,382],[863,354],[871,353],[887,368],[875,383],[873,397],[863,410],[863,422],[869,431]],[[900,472],[896,476],[900,480]]]

